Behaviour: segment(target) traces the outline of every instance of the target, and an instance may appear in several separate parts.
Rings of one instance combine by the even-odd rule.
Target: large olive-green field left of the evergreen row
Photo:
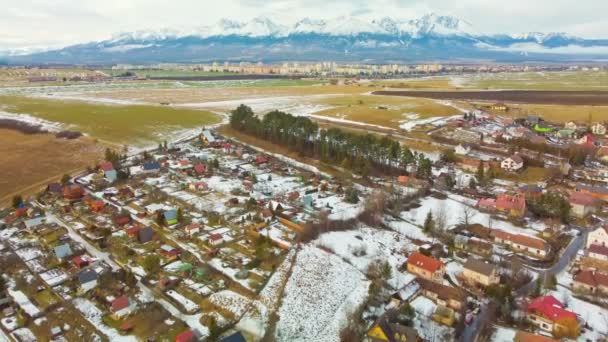
[[[102,141],[135,146],[172,140],[176,131],[220,122],[217,115],[195,109],[102,105],[19,96],[0,96],[0,110],[63,123]]]

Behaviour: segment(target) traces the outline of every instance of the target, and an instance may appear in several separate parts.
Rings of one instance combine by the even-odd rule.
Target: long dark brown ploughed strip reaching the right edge
[[[441,100],[480,100],[557,105],[608,105],[607,91],[375,91],[374,95],[424,97]]]

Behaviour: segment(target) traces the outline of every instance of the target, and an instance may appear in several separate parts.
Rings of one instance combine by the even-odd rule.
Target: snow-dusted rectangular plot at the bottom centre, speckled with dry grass
[[[367,298],[369,281],[340,257],[304,247],[285,287],[279,341],[340,341],[340,330]]]

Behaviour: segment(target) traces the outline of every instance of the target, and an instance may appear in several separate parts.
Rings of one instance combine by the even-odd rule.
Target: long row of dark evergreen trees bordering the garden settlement
[[[432,176],[432,163],[428,158],[387,136],[354,134],[338,128],[319,129],[307,117],[280,111],[267,113],[260,120],[245,105],[232,111],[230,125],[238,131],[286,146],[303,156],[339,165],[362,176],[372,172],[414,173],[416,177],[424,179]]]

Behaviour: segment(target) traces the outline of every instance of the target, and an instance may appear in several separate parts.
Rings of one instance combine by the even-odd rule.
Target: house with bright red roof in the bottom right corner
[[[534,326],[554,335],[578,335],[576,314],[566,310],[553,296],[538,297],[530,302],[526,318]]]

